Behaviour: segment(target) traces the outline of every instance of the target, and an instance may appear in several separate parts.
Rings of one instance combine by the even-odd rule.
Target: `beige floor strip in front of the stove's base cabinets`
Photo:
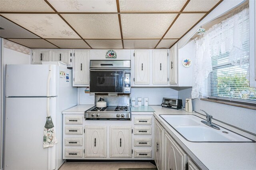
[[[118,168],[156,168],[150,162],[65,162],[59,170],[118,170]]]

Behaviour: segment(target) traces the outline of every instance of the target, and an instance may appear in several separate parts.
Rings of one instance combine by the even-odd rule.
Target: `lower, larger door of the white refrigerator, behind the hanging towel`
[[[50,113],[57,132],[56,100],[57,97],[50,98]],[[6,98],[5,170],[53,170],[57,167],[58,143],[43,148],[46,115],[46,98]]]

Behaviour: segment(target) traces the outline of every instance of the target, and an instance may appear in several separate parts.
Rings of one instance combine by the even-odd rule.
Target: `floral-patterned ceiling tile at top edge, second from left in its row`
[[[48,0],[58,12],[117,12],[116,0]]]

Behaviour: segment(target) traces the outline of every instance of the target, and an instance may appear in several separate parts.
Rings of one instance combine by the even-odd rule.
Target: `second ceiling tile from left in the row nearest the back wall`
[[[47,41],[57,45],[60,48],[90,48],[84,40],[70,40],[70,39],[46,39]]]

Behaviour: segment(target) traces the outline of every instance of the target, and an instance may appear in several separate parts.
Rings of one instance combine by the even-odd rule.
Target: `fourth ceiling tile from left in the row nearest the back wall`
[[[124,40],[126,49],[147,49],[154,48],[159,40]]]

